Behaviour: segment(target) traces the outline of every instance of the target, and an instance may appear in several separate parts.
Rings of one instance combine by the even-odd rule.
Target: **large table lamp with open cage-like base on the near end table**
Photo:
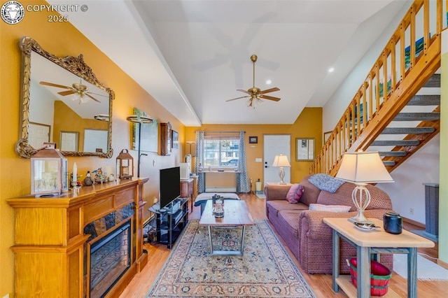
[[[370,192],[365,187],[368,183],[393,182],[378,152],[345,152],[335,178],[356,185],[351,199],[358,214],[349,218],[350,222],[371,222],[364,216],[365,208],[370,204]]]

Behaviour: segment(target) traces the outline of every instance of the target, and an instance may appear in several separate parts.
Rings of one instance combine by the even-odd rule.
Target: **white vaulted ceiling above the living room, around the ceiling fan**
[[[290,124],[304,107],[323,106],[407,1],[83,3],[88,10],[69,21],[183,125],[200,126]],[[255,85],[279,87],[269,95],[281,101],[226,102],[252,87],[252,54]]]

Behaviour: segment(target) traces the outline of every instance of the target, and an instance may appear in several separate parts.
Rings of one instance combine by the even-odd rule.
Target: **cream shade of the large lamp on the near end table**
[[[378,152],[346,152],[336,178],[352,183],[393,182]]]

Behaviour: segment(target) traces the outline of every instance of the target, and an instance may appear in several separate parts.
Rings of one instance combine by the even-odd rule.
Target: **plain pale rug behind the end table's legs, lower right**
[[[393,255],[393,271],[407,278],[407,255]],[[417,255],[417,279],[420,281],[448,281],[448,270]]]

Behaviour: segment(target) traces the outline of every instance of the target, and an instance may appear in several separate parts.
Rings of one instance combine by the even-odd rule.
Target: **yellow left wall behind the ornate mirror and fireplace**
[[[20,3],[27,6],[29,3],[46,2],[20,1]],[[158,104],[150,94],[145,92],[71,24],[49,23],[47,15],[48,13],[26,12],[25,18],[18,24],[10,25],[0,21],[0,297],[8,293],[13,297],[14,288],[14,255],[10,250],[10,246],[13,246],[14,242],[14,215],[13,209],[6,203],[6,199],[29,194],[31,185],[30,161],[19,157],[15,152],[15,142],[19,139],[21,68],[19,40],[22,36],[34,38],[44,50],[59,57],[67,55],[78,57],[82,53],[84,61],[92,68],[97,78],[116,93],[116,99],[113,101],[113,157],[111,159],[69,157],[70,170],[73,167],[73,162],[76,162],[78,166],[78,173],[84,175],[87,171],[92,171],[100,166],[112,166],[115,169],[116,157],[120,150],[130,149],[132,125],[127,122],[126,117],[132,115],[134,107],[140,108],[159,122],[171,122],[173,129],[179,132],[179,141],[181,143],[184,141],[185,129],[179,120],[176,120],[169,111]],[[125,48],[123,48],[123,54],[125,55]],[[130,150],[130,153],[137,162],[137,152]],[[183,156],[182,148],[174,150],[169,157],[162,157],[156,152],[148,152],[148,156],[141,158],[141,176],[150,177],[144,192],[144,198],[148,203],[152,203],[153,197],[158,197],[158,169],[174,166],[179,163],[180,156]],[[153,166],[153,160],[155,166]],[[137,176],[137,170],[135,175]]]

